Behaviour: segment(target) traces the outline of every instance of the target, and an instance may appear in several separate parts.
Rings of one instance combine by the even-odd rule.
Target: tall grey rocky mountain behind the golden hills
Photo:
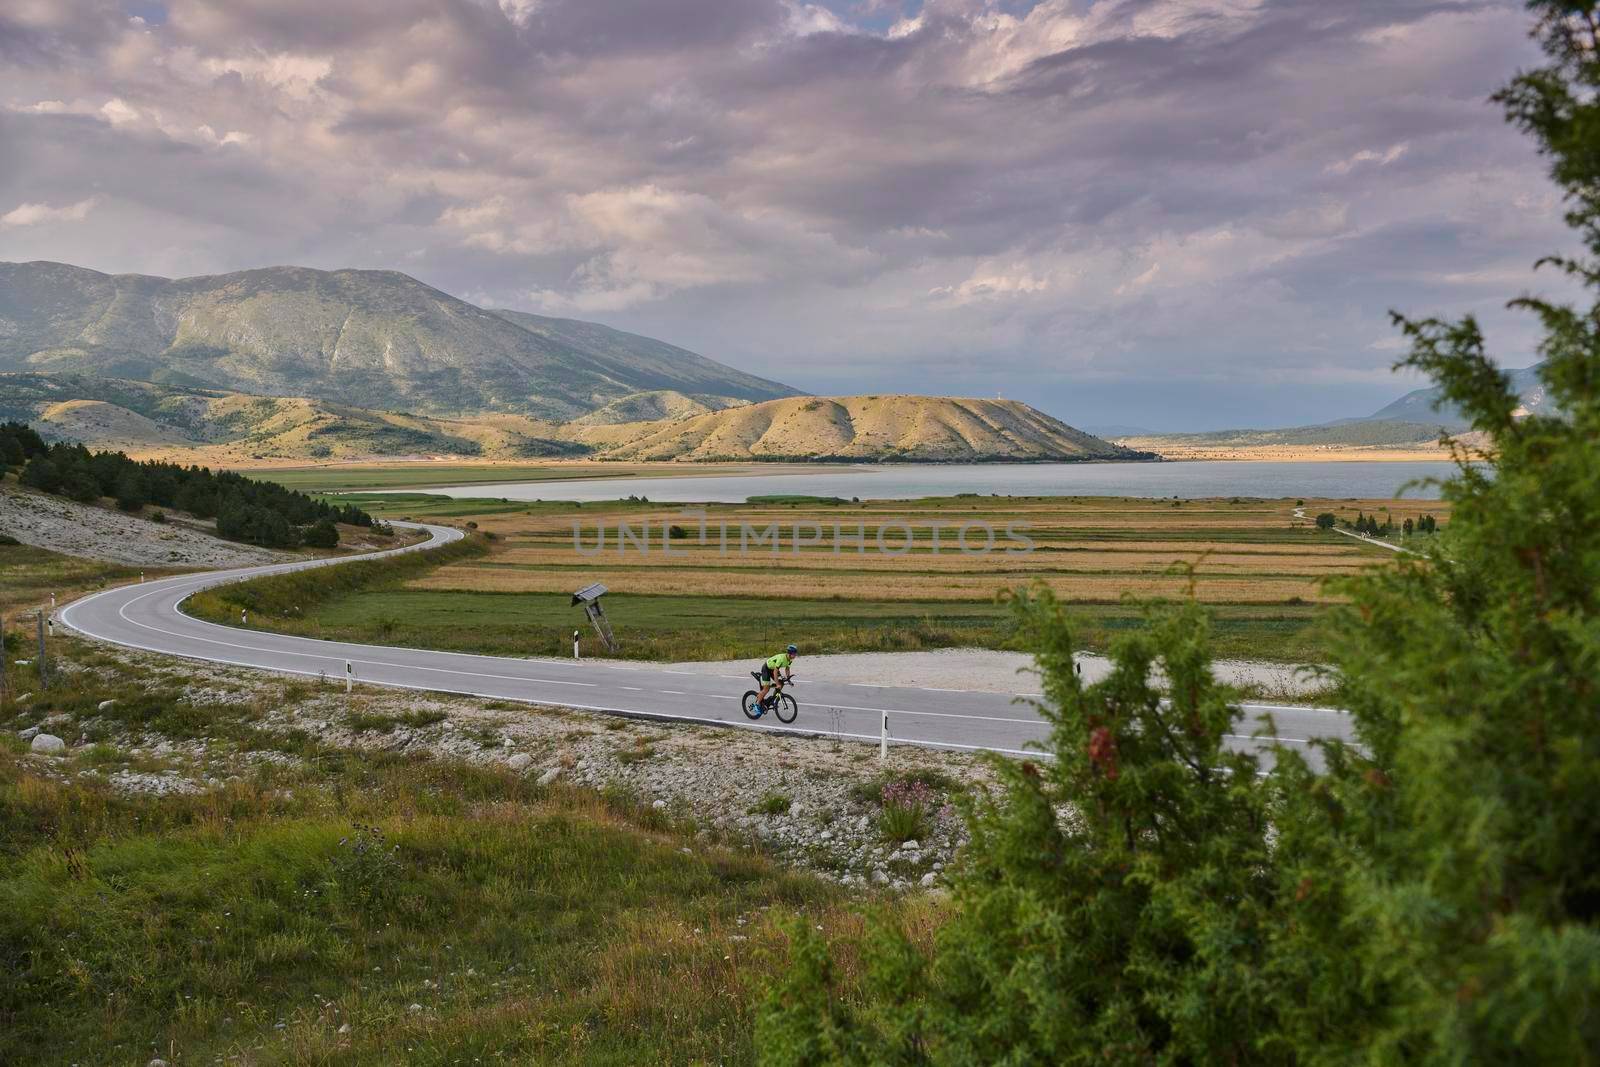
[[[157,278],[0,262],[0,371],[86,373],[434,416],[571,419],[645,390],[797,390],[595,323],[490,312],[392,270]]]

